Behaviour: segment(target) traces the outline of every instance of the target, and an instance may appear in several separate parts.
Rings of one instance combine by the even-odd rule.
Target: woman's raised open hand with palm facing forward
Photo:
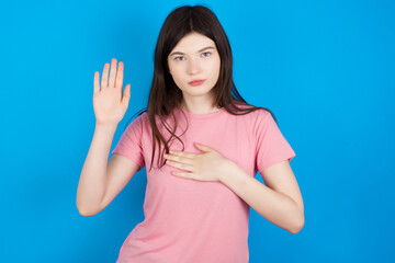
[[[110,64],[104,65],[101,87],[99,84],[99,71],[94,72],[93,81],[93,110],[97,125],[117,125],[126,113],[131,99],[131,84],[125,87],[122,95],[124,64],[120,61],[116,70],[116,59],[111,60],[111,71],[109,81]],[[101,89],[100,89],[101,88]]]

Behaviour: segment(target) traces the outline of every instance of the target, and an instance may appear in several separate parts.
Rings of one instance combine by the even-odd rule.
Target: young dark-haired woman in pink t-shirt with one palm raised
[[[303,199],[290,167],[295,152],[274,115],[240,96],[232,59],[210,9],[173,10],[157,41],[148,106],[109,162],[131,84],[122,95],[124,65],[116,69],[116,59],[110,80],[104,65],[101,89],[94,73],[97,126],[78,185],[80,214],[101,211],[147,167],[145,220],[126,238],[117,262],[248,262],[249,207],[292,233],[302,229]]]

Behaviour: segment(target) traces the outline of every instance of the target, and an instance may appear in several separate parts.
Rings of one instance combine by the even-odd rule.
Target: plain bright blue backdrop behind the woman
[[[115,57],[148,99],[162,22],[205,3],[247,102],[269,107],[296,157],[296,235],[250,210],[250,262],[394,261],[393,1],[1,1],[0,262],[115,262],[144,219],[146,169],[100,214],[77,186],[94,130],[93,75]],[[261,182],[261,176],[257,179]]]

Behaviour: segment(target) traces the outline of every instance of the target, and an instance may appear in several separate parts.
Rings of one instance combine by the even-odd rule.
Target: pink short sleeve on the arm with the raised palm
[[[115,146],[112,155],[122,155],[139,165],[142,170],[145,165],[143,155],[143,113],[136,117],[122,134],[120,141]]]

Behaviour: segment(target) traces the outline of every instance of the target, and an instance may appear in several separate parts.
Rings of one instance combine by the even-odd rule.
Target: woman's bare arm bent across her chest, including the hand
[[[289,160],[261,172],[266,186],[219,152],[194,144],[203,153],[172,151],[163,157],[171,167],[184,170],[171,174],[200,181],[219,181],[235,192],[262,217],[292,233],[304,225],[301,191]]]

